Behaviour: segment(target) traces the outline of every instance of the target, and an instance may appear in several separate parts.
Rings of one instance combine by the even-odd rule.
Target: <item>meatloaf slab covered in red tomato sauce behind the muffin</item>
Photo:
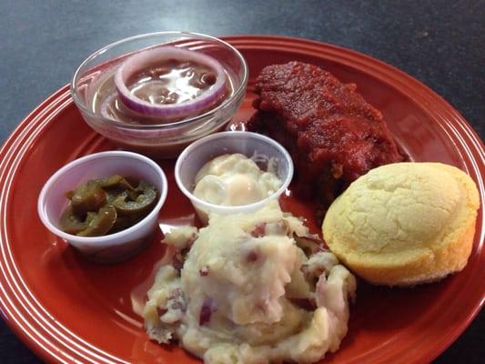
[[[405,160],[381,113],[318,66],[301,62],[265,67],[258,76],[257,113],[248,130],[287,147],[299,194],[322,207],[371,168]]]

